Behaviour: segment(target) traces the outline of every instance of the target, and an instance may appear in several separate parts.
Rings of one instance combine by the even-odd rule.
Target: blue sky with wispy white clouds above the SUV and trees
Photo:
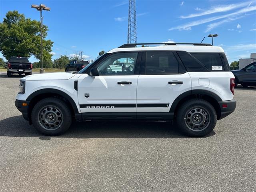
[[[107,52],[127,43],[128,0],[0,0],[0,22],[12,10],[40,20],[31,4],[51,8],[43,12],[43,22],[49,29],[46,39],[54,42],[52,59],[79,51],[83,51],[83,58],[94,59],[101,50]],[[205,37],[203,43],[211,44],[208,34],[218,34],[214,45],[224,49],[230,63],[256,52],[255,0],[136,0],[136,21],[138,43],[200,43]],[[30,62],[36,61],[30,58]]]

